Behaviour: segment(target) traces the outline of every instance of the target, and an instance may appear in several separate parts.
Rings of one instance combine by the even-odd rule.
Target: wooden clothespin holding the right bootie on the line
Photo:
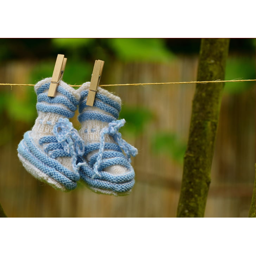
[[[96,92],[98,90],[103,66],[104,66],[103,60],[95,60],[92,79],[91,79],[91,85],[90,85],[87,102],[86,102],[88,106],[93,106],[94,104],[94,99],[95,99]]]

